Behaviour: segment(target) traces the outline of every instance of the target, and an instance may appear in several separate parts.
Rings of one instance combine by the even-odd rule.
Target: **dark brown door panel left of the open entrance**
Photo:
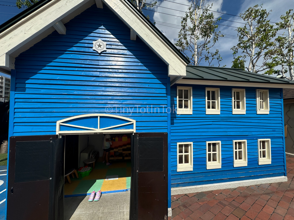
[[[63,160],[63,138],[10,137],[7,220],[64,219]]]

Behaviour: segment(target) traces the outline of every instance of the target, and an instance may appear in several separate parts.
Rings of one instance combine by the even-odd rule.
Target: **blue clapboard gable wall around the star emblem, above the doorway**
[[[66,35],[54,31],[16,58],[14,135],[55,134],[56,121],[109,113],[106,107],[136,120],[137,132],[167,132],[167,65],[140,38],[130,40],[130,29],[106,6],[65,26]],[[98,39],[107,52],[93,51]],[[150,113],[151,106],[160,112]]]

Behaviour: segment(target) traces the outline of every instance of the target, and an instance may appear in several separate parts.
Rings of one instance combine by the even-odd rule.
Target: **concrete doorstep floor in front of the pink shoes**
[[[65,220],[128,220],[130,192],[102,194],[98,202],[89,196],[64,198]]]

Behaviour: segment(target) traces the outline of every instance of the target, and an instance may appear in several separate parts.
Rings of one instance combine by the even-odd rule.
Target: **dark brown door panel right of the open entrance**
[[[130,219],[164,220],[167,216],[167,134],[137,133],[132,144],[135,149],[132,149]]]

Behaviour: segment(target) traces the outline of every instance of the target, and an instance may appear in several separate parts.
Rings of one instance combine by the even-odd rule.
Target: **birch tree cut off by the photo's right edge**
[[[282,15],[282,21],[276,23],[279,30],[286,30],[283,35],[275,39],[275,48],[271,51],[270,57],[276,65],[280,66],[280,70],[267,71],[266,74],[271,75],[280,73],[283,77],[289,80],[294,80],[294,13],[291,14],[292,9]],[[288,70],[287,70],[288,69]],[[289,71],[290,77],[285,75]]]

